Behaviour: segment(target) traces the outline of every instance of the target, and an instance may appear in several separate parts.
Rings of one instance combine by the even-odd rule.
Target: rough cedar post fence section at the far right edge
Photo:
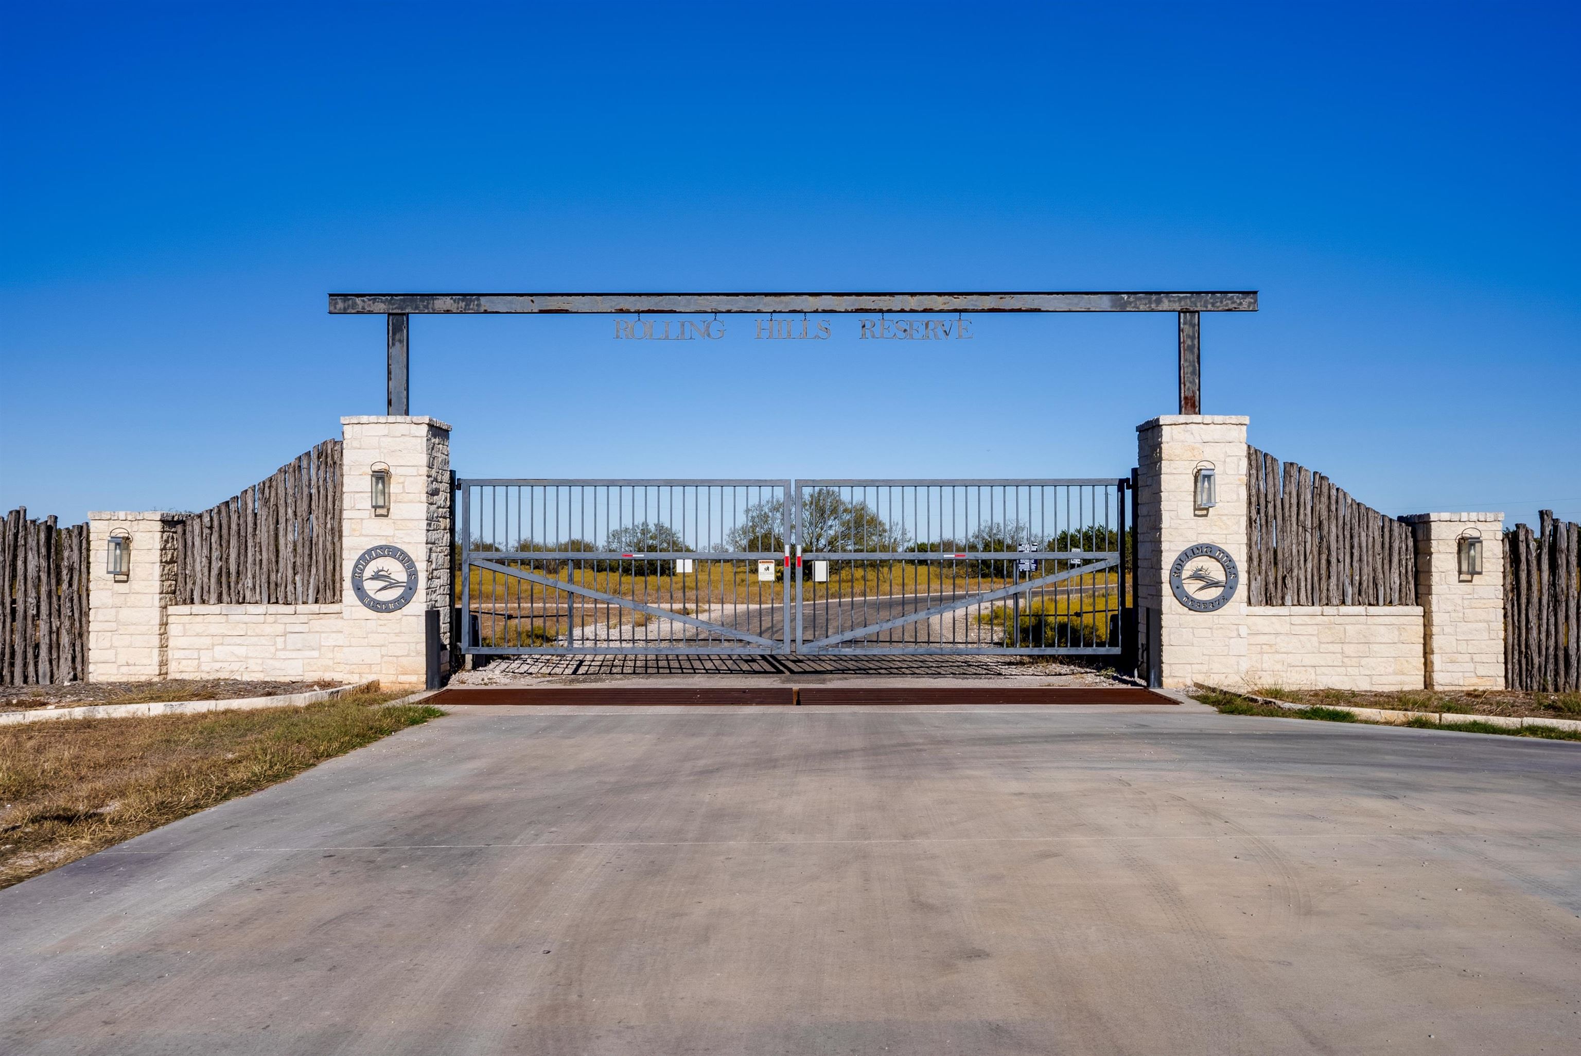
[[[1581,525],[1538,512],[1504,533],[1504,669],[1510,689],[1581,689]]]

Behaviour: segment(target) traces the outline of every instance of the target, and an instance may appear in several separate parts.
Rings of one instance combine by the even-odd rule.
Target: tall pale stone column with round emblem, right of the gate
[[[1238,683],[1246,670],[1246,417],[1165,414],[1137,427],[1137,607],[1146,635],[1148,669],[1157,685]],[[1213,468],[1217,503],[1195,506],[1198,468]],[[1176,558],[1198,544],[1225,550],[1238,583],[1214,610],[1181,604],[1170,586]],[[1189,560],[1217,575],[1211,556]],[[1221,593],[1187,582],[1194,601]]]

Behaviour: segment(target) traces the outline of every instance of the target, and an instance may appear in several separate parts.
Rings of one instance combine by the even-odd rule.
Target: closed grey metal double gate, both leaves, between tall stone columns
[[[1127,487],[458,481],[463,651],[1119,656]]]

